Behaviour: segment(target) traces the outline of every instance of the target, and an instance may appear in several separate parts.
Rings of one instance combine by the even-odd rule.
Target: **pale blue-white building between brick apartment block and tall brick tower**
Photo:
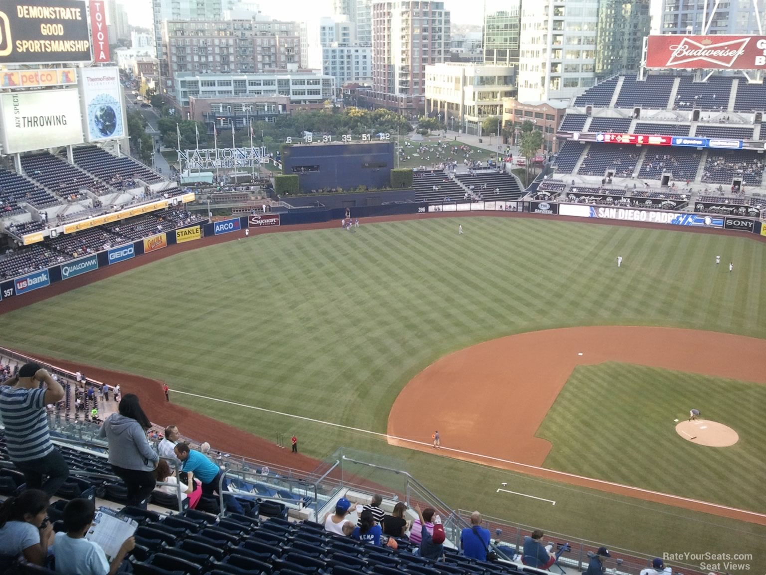
[[[309,67],[334,77],[338,87],[372,81],[372,48],[353,41],[355,36],[348,15],[319,20],[309,30]]]

